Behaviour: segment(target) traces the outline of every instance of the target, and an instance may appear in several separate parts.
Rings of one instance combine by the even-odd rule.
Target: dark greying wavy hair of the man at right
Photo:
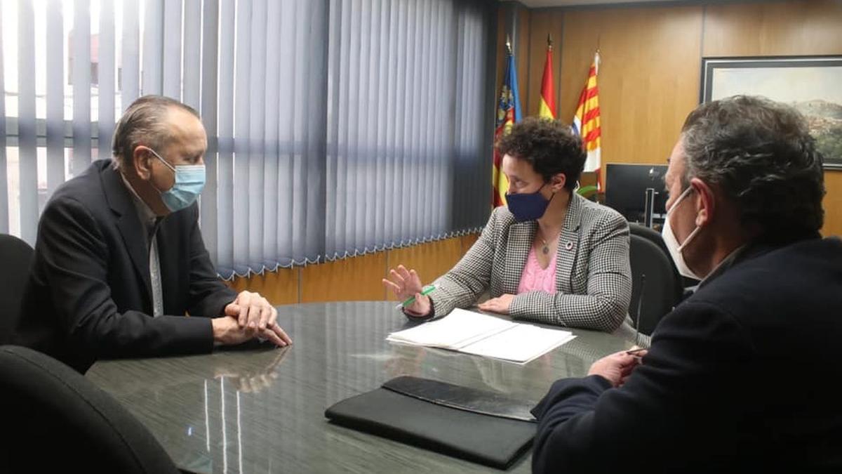
[[[743,224],[759,224],[765,238],[822,228],[823,159],[793,107],[737,95],[700,105],[681,132],[683,188],[693,177],[719,186]]]

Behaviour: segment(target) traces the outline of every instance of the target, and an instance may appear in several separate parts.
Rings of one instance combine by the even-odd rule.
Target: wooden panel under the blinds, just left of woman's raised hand
[[[301,269],[301,303],[369,301],[386,297],[386,253],[376,252]]]

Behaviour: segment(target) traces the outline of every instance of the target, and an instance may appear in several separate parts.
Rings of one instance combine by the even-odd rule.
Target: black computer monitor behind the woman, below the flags
[[[667,203],[663,175],[666,173],[666,164],[606,164],[605,205],[616,209],[629,222],[645,224],[646,190],[652,188],[655,191],[653,222],[663,223]]]

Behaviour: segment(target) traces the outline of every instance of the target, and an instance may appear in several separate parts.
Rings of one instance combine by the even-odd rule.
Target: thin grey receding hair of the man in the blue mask
[[[199,112],[189,105],[163,95],[144,95],[129,105],[117,122],[111,141],[112,153],[118,167],[122,168],[127,159],[131,160],[138,145],[155,151],[167,147],[170,133],[164,119],[171,107],[178,107],[200,118]]]

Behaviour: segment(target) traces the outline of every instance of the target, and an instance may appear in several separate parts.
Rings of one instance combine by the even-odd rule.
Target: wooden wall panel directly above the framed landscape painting
[[[839,0],[706,6],[706,57],[835,54],[842,54]]]

